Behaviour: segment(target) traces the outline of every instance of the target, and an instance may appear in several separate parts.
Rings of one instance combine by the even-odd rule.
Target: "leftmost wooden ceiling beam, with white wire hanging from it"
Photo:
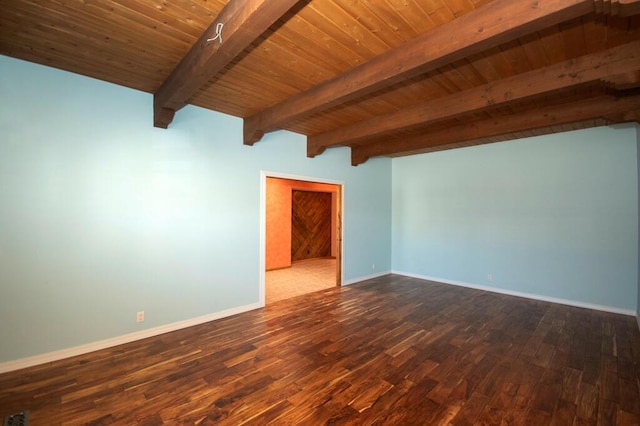
[[[230,0],[171,75],[153,100],[154,126],[167,128],[177,110],[262,33],[280,19],[298,0]],[[207,41],[221,23],[222,43]]]

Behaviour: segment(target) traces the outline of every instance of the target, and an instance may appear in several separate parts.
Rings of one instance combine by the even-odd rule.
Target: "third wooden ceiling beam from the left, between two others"
[[[309,136],[307,155],[640,69],[640,41],[518,74],[391,114]]]

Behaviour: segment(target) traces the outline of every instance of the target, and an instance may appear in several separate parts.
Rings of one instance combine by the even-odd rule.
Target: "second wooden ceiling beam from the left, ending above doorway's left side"
[[[612,0],[496,0],[418,36],[349,71],[244,120],[244,143],[287,122],[348,102],[398,81],[434,70],[483,50],[552,25],[586,15],[599,1],[603,12]],[[637,3],[639,0],[624,0]],[[631,6],[622,7],[628,10]]]

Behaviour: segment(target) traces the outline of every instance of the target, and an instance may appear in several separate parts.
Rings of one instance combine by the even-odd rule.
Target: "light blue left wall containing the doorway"
[[[388,159],[155,129],[149,94],[2,56],[0,93],[0,362],[258,303],[261,170],[343,181],[345,281],[390,270]]]

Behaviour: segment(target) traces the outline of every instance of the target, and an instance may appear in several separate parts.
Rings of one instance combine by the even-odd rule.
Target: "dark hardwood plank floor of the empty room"
[[[55,424],[638,424],[635,318],[401,276],[0,375]]]

